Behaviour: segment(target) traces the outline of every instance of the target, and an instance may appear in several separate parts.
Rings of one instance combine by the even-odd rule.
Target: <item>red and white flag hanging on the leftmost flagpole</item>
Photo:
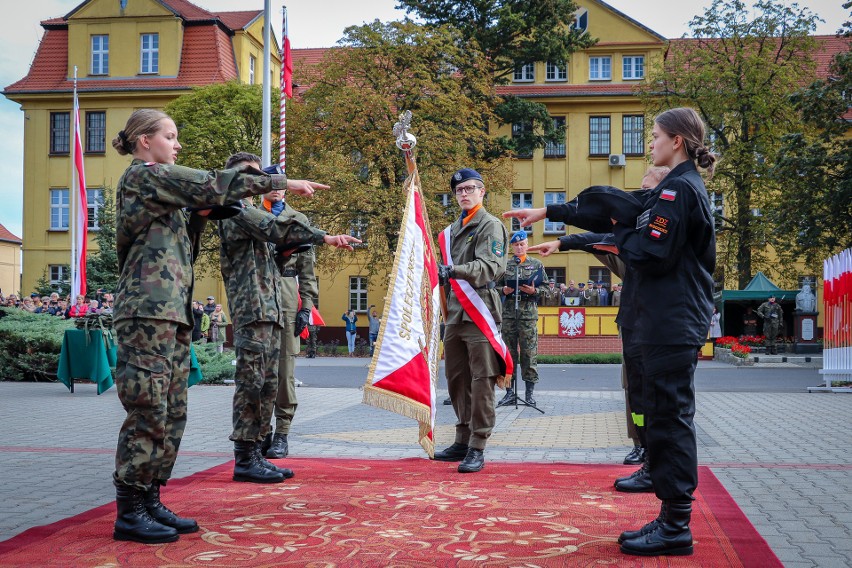
[[[83,171],[83,143],[80,138],[80,104],[77,100],[76,68],[74,79],[74,142],[71,149],[71,303],[86,295],[86,248],[89,227],[89,201],[86,174]]]

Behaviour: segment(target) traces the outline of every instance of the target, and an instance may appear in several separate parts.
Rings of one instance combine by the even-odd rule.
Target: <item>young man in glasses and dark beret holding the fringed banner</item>
[[[485,334],[446,285],[450,279],[467,281],[499,326],[500,294],[494,283],[506,271],[509,238],[502,221],[482,206],[485,185],[477,171],[459,170],[453,174],[450,188],[455,192],[462,216],[451,225],[447,243],[454,264],[439,265],[438,277],[441,285],[449,289],[444,358],[447,387],[458,422],[455,442],[436,452],[435,459],[461,461],[459,473],[471,473],[485,467],[485,443],[496,418],[494,385],[506,369]]]

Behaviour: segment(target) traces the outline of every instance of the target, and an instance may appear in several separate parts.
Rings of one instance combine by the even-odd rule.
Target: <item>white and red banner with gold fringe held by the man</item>
[[[364,404],[417,420],[420,445],[431,458],[440,342],[438,264],[416,171],[405,189],[408,199]]]

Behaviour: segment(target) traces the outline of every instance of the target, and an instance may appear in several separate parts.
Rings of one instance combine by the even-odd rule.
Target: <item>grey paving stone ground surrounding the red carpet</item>
[[[233,457],[233,387],[189,393],[176,478]],[[446,393],[438,394],[440,402]],[[414,423],[361,404],[360,389],[302,387],[298,396],[294,456],[425,456]],[[543,415],[498,409],[488,460],[621,463],[630,449],[621,392],[536,390],[536,398]],[[0,383],[0,540],[113,501],[123,418],[114,389],[97,396],[89,383],[74,394],[58,384]],[[439,405],[438,446],[452,442],[454,421],[452,407]],[[698,393],[695,424],[699,463],[785,566],[852,566],[852,396]]]

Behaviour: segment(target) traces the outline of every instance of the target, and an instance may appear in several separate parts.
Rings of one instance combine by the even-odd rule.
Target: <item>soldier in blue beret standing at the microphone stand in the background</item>
[[[512,235],[509,243],[515,256],[506,263],[506,274],[501,281],[503,300],[503,340],[509,347],[513,361],[521,363],[521,377],[526,391],[527,404],[535,405],[533,391],[538,382],[536,355],[538,354],[538,302],[540,294],[547,290],[547,274],[541,261],[527,256],[529,240],[523,229]],[[515,290],[517,277],[519,289]],[[517,297],[516,297],[517,296]],[[518,308],[515,309],[515,300]],[[519,353],[520,351],[520,353]],[[518,357],[520,355],[520,357]],[[515,363],[517,365],[517,363]],[[514,404],[516,394],[511,387],[498,406]]]

